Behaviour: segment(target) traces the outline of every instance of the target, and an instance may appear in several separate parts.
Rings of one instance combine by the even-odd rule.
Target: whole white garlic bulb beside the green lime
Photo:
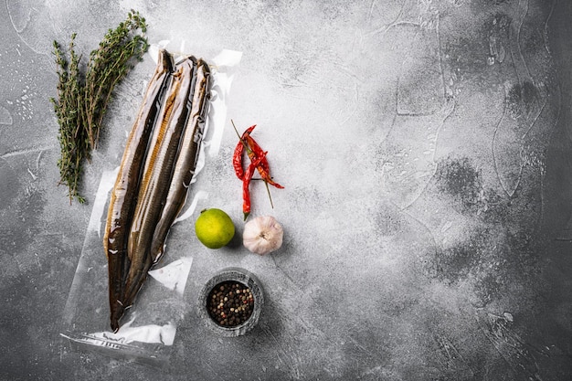
[[[260,216],[249,220],[244,225],[242,243],[253,253],[265,255],[280,249],[283,230],[274,217]]]

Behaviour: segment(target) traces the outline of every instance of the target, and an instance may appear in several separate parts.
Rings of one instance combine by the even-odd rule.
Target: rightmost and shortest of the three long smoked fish
[[[195,175],[196,159],[200,150],[200,144],[205,132],[207,122],[208,99],[210,98],[209,82],[210,70],[207,63],[199,59],[196,69],[196,90],[193,94],[192,110],[189,116],[188,127],[183,135],[179,150],[173,180],[169,186],[169,193],[154,230],[151,248],[152,259],[157,262],[164,252],[164,241],[173,225],[175,218],[185,205],[185,198],[193,175]]]

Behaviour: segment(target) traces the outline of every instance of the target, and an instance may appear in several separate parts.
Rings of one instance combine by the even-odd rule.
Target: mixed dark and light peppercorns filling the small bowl
[[[234,280],[218,283],[208,294],[207,311],[223,327],[236,327],[249,320],[254,309],[250,289]]]

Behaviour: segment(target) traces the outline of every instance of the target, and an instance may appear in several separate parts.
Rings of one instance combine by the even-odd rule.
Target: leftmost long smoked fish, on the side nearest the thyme
[[[165,51],[159,52],[154,76],[147,85],[143,103],[129,134],[122,163],[111,191],[103,249],[108,259],[111,329],[117,332],[124,312],[125,270],[130,267],[126,256],[127,238],[141,178],[141,167],[149,137],[163,103],[165,89],[171,79],[173,59]]]

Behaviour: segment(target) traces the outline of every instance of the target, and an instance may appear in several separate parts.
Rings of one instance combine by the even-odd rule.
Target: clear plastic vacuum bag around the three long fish
[[[159,48],[174,52],[168,41],[152,45],[149,54],[155,60]],[[216,58],[207,59],[212,78],[211,98],[195,176],[205,160],[218,153],[226,122],[233,68],[238,65],[240,58],[240,52],[223,50]],[[107,259],[102,237],[109,195],[118,170],[119,167],[101,175],[60,334],[69,340],[73,348],[161,366],[166,364],[171,353],[177,325],[194,307],[194,303],[183,298],[193,259],[186,253],[167,247],[164,259],[158,267],[149,271],[136,302],[123,316],[120,330],[111,332]],[[194,182],[195,178],[192,180]],[[187,200],[184,212],[175,223],[192,216],[197,201],[208,196],[200,189],[194,189],[192,194],[194,198]]]

